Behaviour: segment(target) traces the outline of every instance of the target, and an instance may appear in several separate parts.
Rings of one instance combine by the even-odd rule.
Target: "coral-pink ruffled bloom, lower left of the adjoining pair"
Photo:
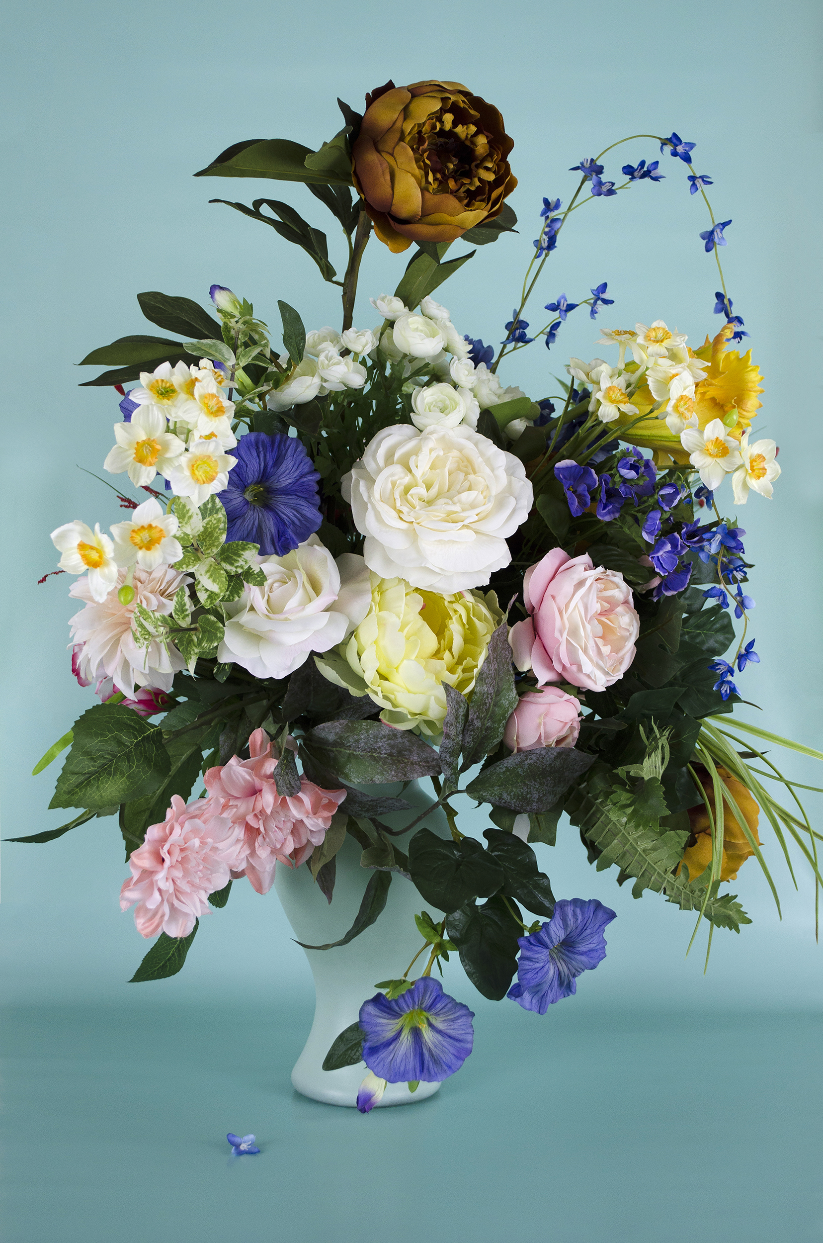
[[[229,884],[229,863],[237,851],[237,828],[216,815],[210,799],[186,807],[178,794],[163,824],[153,824],[132,851],[132,879],[123,881],[121,910],[137,902],[140,936],[188,936],[209,910],[208,896]]]

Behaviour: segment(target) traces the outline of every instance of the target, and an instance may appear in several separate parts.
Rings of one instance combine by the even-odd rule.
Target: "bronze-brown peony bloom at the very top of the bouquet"
[[[517,185],[500,113],[459,82],[387,82],[366,97],[352,174],[389,250],[455,241]]]

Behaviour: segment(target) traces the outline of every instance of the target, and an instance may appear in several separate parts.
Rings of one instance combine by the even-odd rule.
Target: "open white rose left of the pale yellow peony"
[[[255,677],[286,677],[310,651],[328,651],[363,620],[372,583],[362,557],[337,562],[317,536],[286,553],[257,561],[265,587],[246,587],[226,604],[218,660],[235,661]]]

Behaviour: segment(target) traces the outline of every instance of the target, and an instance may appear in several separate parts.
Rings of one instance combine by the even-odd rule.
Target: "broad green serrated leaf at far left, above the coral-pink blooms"
[[[149,794],[169,771],[158,726],[129,707],[99,704],[75,722],[75,741],[48,805],[99,812]]]

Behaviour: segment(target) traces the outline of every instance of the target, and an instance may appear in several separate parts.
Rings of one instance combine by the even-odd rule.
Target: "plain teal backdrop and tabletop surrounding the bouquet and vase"
[[[758,567],[762,656],[745,694],[765,709],[742,712],[822,747],[822,25],[811,0],[7,4],[2,835],[70,818],[47,810],[57,767],[29,773],[91,702],[65,650],[68,579],[36,583],[56,563],[48,532],[73,517],[106,527],[121,512],[77,469],[102,474],[117,399],[77,388],[96,372],[73,364],[154,331],[134,301],[142,290],[205,302],[216,281],[272,326],[277,298],[308,327],[337,323],[338,291],[302,251],[208,199],[292,203],[326,229],[342,268],[322,205],[300,185],[190,174],[241,138],[317,147],[339,128],[337,94],[359,107],[389,76],[466,82],[516,140],[521,232],[480,250],[439,295],[485,341],[510,317],[542,196],[573,193],[571,164],[634,132],[674,128],[697,143],[715,215],[733,220],[722,260],[765,375],[756,429],[779,443],[783,467],[776,500],[752,496],[738,515]],[[607,172],[639,158],[660,158],[666,180],[576,213],[547,265],[535,307],[604,280],[615,303],[597,323],[572,316],[551,355],[535,346],[508,363],[503,379],[532,397],[556,390],[551,373],[569,354],[603,353],[599,324],[660,317],[692,344],[720,326],[687,170],[641,140],[610,154]],[[390,292],[404,265],[369,246],[356,324],[373,322],[368,296]],[[772,758],[819,782],[812,762]],[[762,837],[783,920],[748,864],[733,888],[755,924],[717,933],[704,977],[702,932],[684,957],[690,919],[595,874],[566,827],[554,850],[538,848],[541,863],[558,895],[617,910],[607,961],[543,1019],[477,1002],[450,965],[448,987],[477,1011],[474,1057],[433,1101],[368,1119],[292,1094],[311,987],[274,894],[236,886],[180,976],[129,988],[145,945],[118,909],[116,822],[4,846],[2,1237],[821,1238],[813,885],[799,868],[794,892]],[[264,1154],[228,1166],[230,1129],[255,1131]]]

